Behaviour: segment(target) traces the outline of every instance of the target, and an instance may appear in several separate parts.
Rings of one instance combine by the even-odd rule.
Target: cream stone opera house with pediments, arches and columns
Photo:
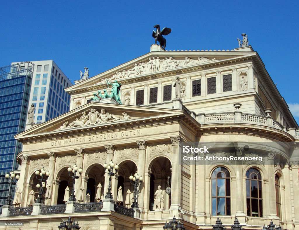
[[[299,127],[251,46],[152,45],[65,91],[69,112],[15,136],[20,202],[0,222],[22,226],[0,228],[58,229],[69,216],[81,230],[162,230],[174,216],[185,229],[218,217],[231,229],[236,216],[246,230],[299,228]],[[210,149],[186,154],[195,143]]]

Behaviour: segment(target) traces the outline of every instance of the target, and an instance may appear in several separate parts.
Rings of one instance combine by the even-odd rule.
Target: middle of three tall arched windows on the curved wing
[[[262,177],[255,168],[246,172],[246,197],[247,215],[263,217]]]

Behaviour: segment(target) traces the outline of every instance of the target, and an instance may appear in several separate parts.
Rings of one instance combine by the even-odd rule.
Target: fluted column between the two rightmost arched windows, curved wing
[[[275,193],[275,172],[274,172],[274,157],[277,152],[268,152],[268,174],[269,174],[269,211],[270,218],[277,218],[276,210],[276,193]]]

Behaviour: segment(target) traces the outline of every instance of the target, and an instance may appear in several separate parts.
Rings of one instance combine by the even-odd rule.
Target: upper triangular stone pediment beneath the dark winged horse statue
[[[68,93],[77,93],[86,90],[95,90],[109,81],[122,83],[152,79],[168,74],[191,70],[201,70],[219,65],[231,64],[236,60],[248,60],[249,56],[255,56],[255,52],[232,51],[165,51],[150,52],[133,59],[115,68],[107,70],[86,80],[81,80],[75,85],[65,89]]]

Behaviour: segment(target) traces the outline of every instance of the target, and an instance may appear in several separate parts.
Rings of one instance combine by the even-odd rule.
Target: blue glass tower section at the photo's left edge
[[[32,62],[0,68],[0,206],[9,190],[5,174],[17,170],[16,155],[22,151],[14,135],[25,130],[33,68]]]

